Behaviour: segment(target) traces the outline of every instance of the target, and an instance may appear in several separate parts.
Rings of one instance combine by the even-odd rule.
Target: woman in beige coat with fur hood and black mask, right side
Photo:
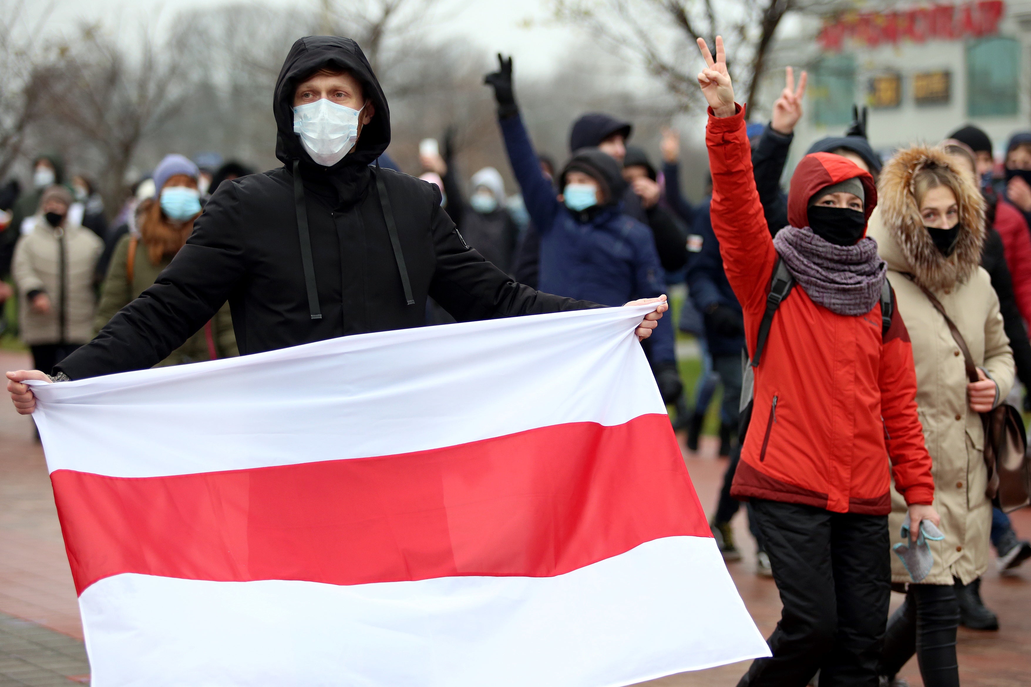
[[[906,600],[889,621],[883,674],[894,674],[916,647],[927,687],[959,685],[954,584],[968,585],[989,563],[992,504],[985,495],[978,413],[1005,399],[1013,358],[999,301],[980,268],[984,200],[973,178],[940,148],[898,152],[880,173],[879,205],[869,235],[888,263],[888,278],[912,341],[917,405],[934,461],[934,507],[944,540],[930,542],[934,565],[920,584],[895,557],[892,579],[908,582]],[[923,289],[941,303],[966,341],[980,381],[969,383],[963,354],[944,317]],[[892,490],[891,536],[905,503]]]

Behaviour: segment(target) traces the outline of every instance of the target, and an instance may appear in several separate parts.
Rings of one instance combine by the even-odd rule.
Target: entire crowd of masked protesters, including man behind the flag
[[[756,572],[784,603],[772,657],[740,684],[901,685],[916,655],[925,685],[958,685],[957,626],[998,628],[979,594],[989,547],[1003,573],[1031,557],[986,495],[979,419],[1022,405],[1015,380],[1031,384],[1031,132],[1012,136],[1002,173],[972,126],[885,161],[857,111],[786,192],[805,73],[796,83],[788,68],[770,121],[749,124],[721,39],[714,57],[699,43],[710,109],[697,202],[672,130],[656,167],[629,143],[632,123],[586,113],[556,165],[501,56],[485,81],[519,193],[497,167],[460,178],[451,133],[420,146],[419,179],[400,174],[375,75],[353,41],[328,37],[299,40],[279,75],[277,170],[171,153],[112,212],[88,177],[40,156],[31,188],[0,188],[0,277],[13,285],[0,281],[0,301],[16,300],[35,367],[8,375],[15,405],[33,408],[27,379],[655,302],[637,335],[689,450],[723,388],[712,535],[740,559],[731,519],[745,504]],[[674,322],[662,312],[676,283]],[[677,330],[698,342],[693,389]],[[905,602],[889,618],[892,588]]]

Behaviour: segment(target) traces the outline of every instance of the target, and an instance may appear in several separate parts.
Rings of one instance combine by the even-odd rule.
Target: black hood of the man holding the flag
[[[376,113],[372,121],[362,128],[361,136],[355,148],[332,167],[323,167],[308,156],[301,144],[300,138],[294,133],[294,91],[301,79],[323,67],[334,67],[350,71],[362,82],[366,101],[372,101]],[[390,109],[387,107],[387,97],[376,75],[372,73],[369,61],[358,43],[351,38],[339,36],[306,36],[299,38],[290,48],[287,59],[279,70],[275,81],[275,95],[272,101],[277,131],[275,157],[287,169],[293,169],[293,161],[300,160],[305,185],[311,176],[318,173],[334,177],[347,177],[361,172],[369,164],[375,162],[390,145]],[[339,179],[334,179],[334,185]],[[339,191],[343,191],[338,188]]]

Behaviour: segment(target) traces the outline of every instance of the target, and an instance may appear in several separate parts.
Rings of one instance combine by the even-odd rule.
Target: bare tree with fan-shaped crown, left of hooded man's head
[[[140,142],[185,103],[181,36],[158,44],[144,30],[138,45],[130,51],[100,26],[84,25],[56,45],[45,74],[47,116],[99,153],[108,208],[119,207],[127,191]]]

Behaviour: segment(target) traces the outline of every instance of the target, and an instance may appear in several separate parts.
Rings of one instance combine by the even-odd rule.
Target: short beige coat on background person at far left
[[[60,275],[62,244],[64,279]],[[93,338],[93,312],[97,306],[94,269],[103,249],[103,242],[89,229],[74,225],[56,230],[41,217],[32,233],[19,240],[11,274],[21,297],[22,341],[30,346],[82,344]],[[35,290],[45,291],[49,297],[49,313],[37,313],[29,306],[28,294]],[[62,293],[65,295],[63,303]]]

